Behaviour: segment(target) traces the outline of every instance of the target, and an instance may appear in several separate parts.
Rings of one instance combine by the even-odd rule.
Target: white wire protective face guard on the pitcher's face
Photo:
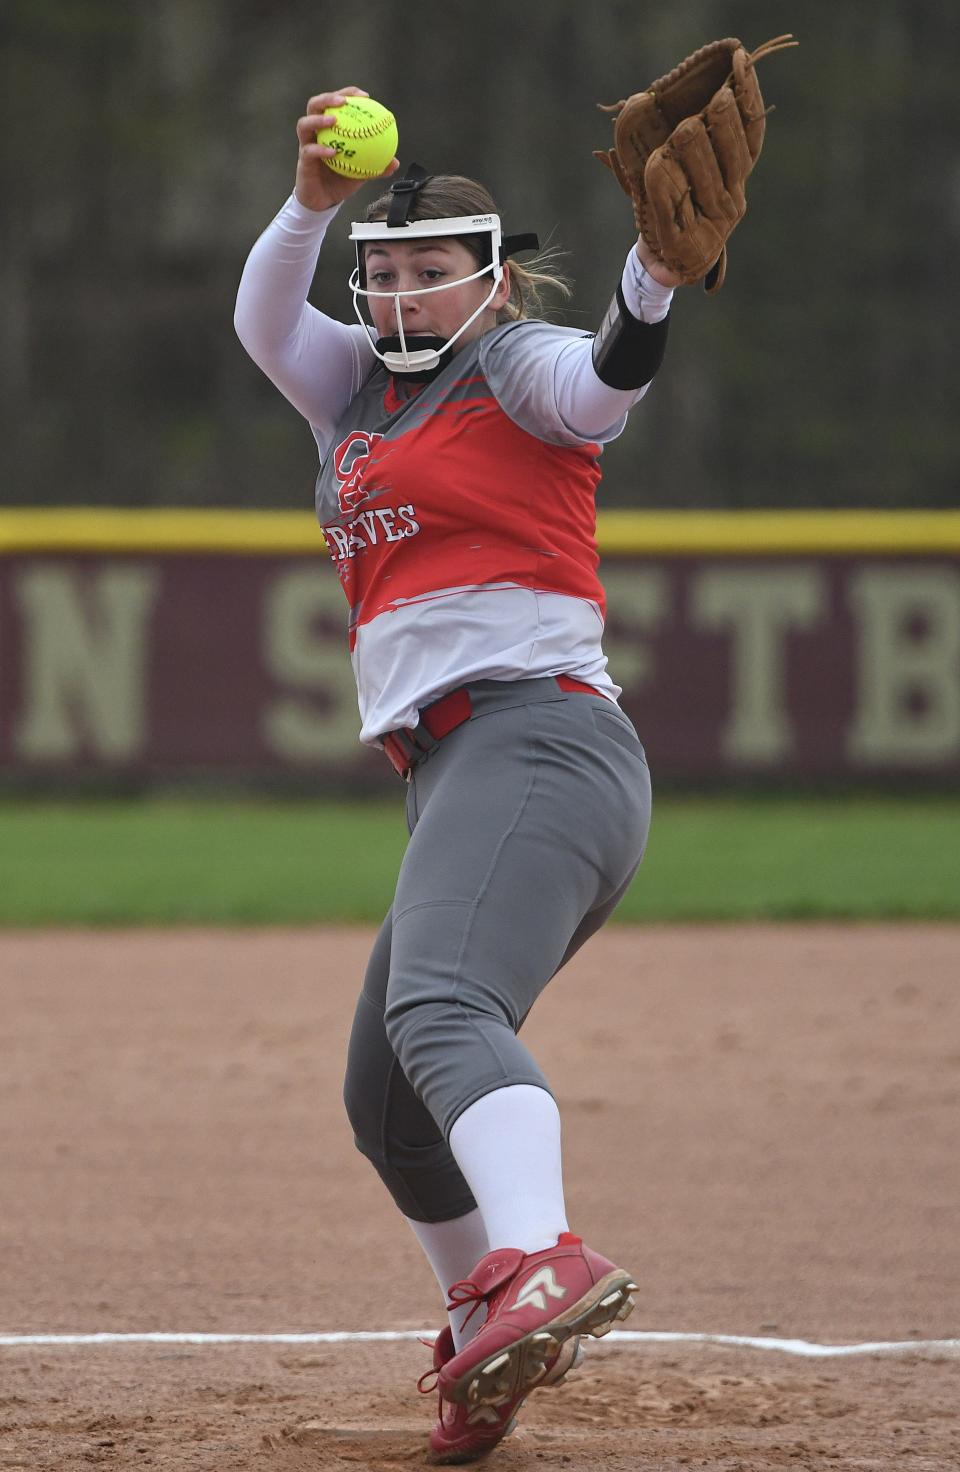
[[[489,237],[489,265],[480,266],[468,277],[459,277],[456,281],[442,281],[440,286],[424,286],[414,291],[371,291],[367,286],[367,269],[364,265],[364,246],[370,244],[373,240],[389,240],[393,243],[406,244],[412,240],[448,237],[448,236],[487,236]],[[353,311],[356,312],[361,327],[370,334],[371,346],[380,362],[387,368],[389,372],[405,372],[405,374],[421,374],[430,372],[440,365],[443,355],[449,352],[452,344],[456,342],[462,333],[467,331],[471,322],[474,322],[480,314],[490,305],[496,293],[498,286],[504,280],[504,265],[501,252],[501,219],[499,215],[456,215],[449,219],[415,219],[409,224],[390,225],[384,219],[373,221],[371,224],[358,224],[356,221],[350,230],[350,240],[356,244],[356,266],[350,274],[350,291],[353,293]],[[486,250],[484,250],[486,255]],[[403,296],[427,296],[431,291],[448,291],[453,286],[464,286],[465,281],[477,281],[480,277],[492,277],[490,290],[486,297],[476,309],[471,312],[465,322],[456,328],[452,337],[428,339],[428,346],[411,349],[406,344],[406,336],[403,333],[403,319],[400,316],[400,297]],[[361,312],[359,297],[368,296],[387,296],[393,297],[393,312],[396,316],[396,337],[377,339],[374,330],[364,321]],[[398,350],[399,349],[399,350]]]

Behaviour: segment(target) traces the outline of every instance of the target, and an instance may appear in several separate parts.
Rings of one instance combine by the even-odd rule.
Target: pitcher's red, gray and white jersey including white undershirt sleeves
[[[571,674],[615,699],[601,649],[596,459],[648,386],[602,381],[590,333],[523,321],[484,333],[398,397],[359,322],[306,299],[336,213],[290,196],[250,250],[234,321],[317,440],[361,740],[415,724],[465,680]],[[670,309],[673,291],[635,249],[620,289],[638,321]]]

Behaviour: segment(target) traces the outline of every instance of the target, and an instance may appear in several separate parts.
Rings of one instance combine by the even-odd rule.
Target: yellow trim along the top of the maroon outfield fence
[[[801,556],[960,552],[960,511],[602,511],[601,553]],[[0,511],[0,553],[320,553],[306,511],[44,506]]]

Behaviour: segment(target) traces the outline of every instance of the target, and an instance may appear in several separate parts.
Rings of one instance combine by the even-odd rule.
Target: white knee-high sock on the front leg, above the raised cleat
[[[539,1253],[567,1231],[560,1110],[546,1089],[509,1083],[465,1108],[451,1151],[473,1191],[489,1248]]]

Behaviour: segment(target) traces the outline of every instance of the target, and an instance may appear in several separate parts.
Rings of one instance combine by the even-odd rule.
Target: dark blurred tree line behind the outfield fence
[[[727,284],[679,293],[602,500],[956,505],[959,57],[936,0],[4,0],[0,500],[311,505],[312,436],[233,333],[311,93],[365,87],[403,165],[483,180],[507,230],[567,249],[560,319],[592,330],[632,238],[596,103],[783,31],[801,46],[761,66],[776,112]],[[346,321],[350,215],[311,294]]]

